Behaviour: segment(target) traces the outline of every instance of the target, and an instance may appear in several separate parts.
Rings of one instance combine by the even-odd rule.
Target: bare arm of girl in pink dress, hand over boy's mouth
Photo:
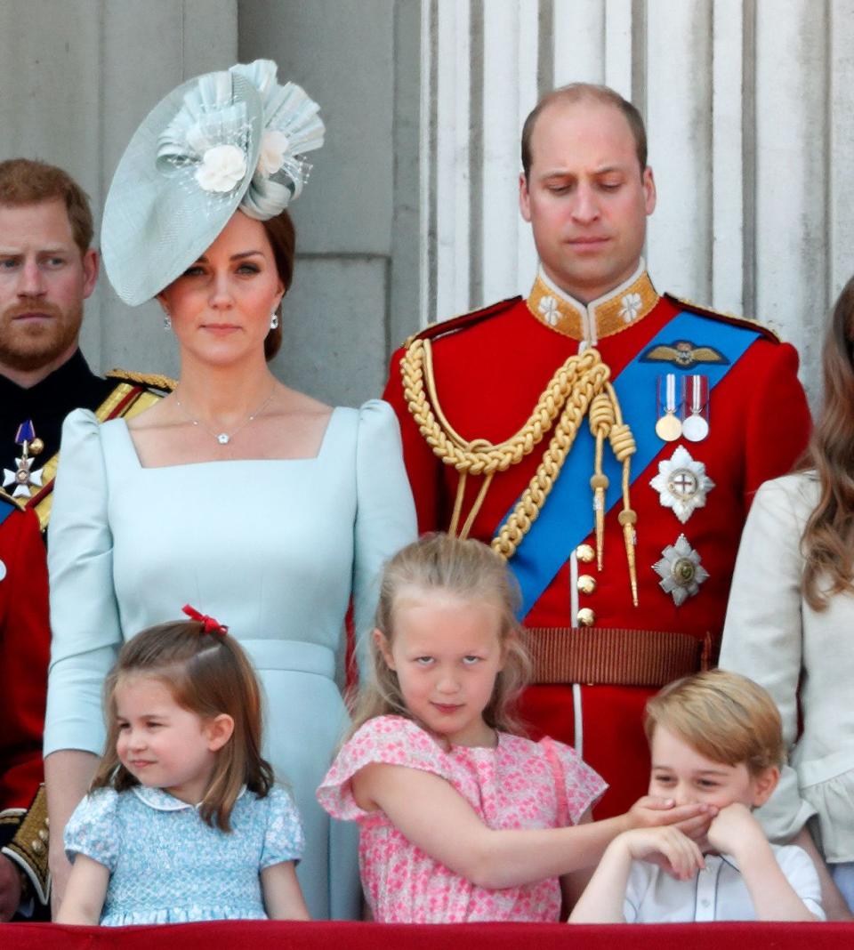
[[[625,815],[563,828],[494,829],[484,825],[444,778],[420,769],[372,763],[352,778],[356,804],[381,810],[413,845],[481,887],[515,887],[590,867],[621,831],[709,822],[709,807],[641,799]]]

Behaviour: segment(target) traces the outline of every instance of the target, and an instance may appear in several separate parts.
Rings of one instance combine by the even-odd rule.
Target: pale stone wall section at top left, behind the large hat
[[[97,225],[146,113],[173,86],[236,56],[237,0],[4,0],[0,157],[66,168],[92,199]],[[158,314],[153,304],[124,307],[102,277],[83,331],[93,368],[176,371]]]

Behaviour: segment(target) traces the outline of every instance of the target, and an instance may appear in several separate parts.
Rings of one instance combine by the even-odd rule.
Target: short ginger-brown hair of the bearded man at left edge
[[[42,201],[66,203],[74,243],[83,255],[92,243],[92,209],[83,188],[62,168],[32,159],[0,161],[0,205],[20,207]]]

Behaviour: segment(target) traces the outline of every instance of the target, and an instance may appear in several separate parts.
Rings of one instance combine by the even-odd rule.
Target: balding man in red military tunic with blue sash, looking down
[[[656,292],[631,104],[556,90],[522,165],[530,295],[419,333],[386,398],[421,529],[493,542],[520,580],[522,712],[609,782],[606,817],[645,791],[647,697],[713,658],[751,494],[798,457],[809,416],[792,347]]]

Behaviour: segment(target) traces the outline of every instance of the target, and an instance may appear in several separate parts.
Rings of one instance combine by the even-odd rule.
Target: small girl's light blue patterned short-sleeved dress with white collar
[[[99,788],[68,820],[66,853],[109,870],[104,926],[264,920],[260,872],[299,860],[299,816],[283,788],[264,798],[244,788],[230,824],[211,827],[161,788]]]

